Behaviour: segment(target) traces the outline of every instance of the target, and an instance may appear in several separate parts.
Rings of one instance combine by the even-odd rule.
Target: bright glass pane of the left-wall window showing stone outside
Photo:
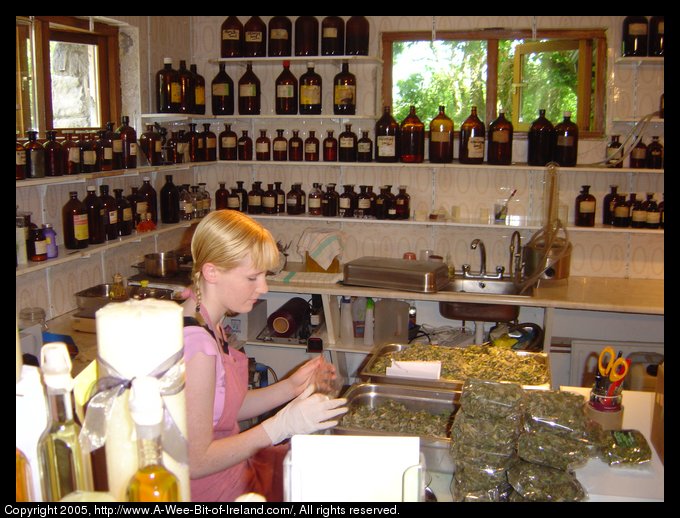
[[[97,46],[50,41],[55,128],[98,128]]]

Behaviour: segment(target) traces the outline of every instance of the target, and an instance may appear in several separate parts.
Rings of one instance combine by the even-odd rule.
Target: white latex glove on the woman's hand
[[[347,399],[329,399],[324,394],[312,394],[310,384],[302,394],[262,423],[272,444],[278,444],[296,434],[314,433],[333,428],[337,421],[329,421],[347,412]]]

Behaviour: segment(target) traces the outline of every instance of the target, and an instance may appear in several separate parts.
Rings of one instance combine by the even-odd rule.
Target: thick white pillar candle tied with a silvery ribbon
[[[182,308],[157,299],[109,303],[95,314],[99,357],[123,378],[151,374],[182,350]],[[183,360],[180,360],[183,361]],[[101,369],[100,369],[101,372]],[[129,390],[118,397],[107,423],[106,458],[109,492],[125,500],[130,477],[137,470],[135,427],[128,410]],[[177,427],[187,437],[184,389],[164,397]],[[180,498],[190,500],[189,466],[163,454],[165,466],[180,482]]]

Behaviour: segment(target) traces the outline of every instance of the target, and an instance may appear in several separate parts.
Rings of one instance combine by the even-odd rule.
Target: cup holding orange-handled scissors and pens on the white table
[[[595,385],[590,391],[586,405],[587,414],[599,422],[605,430],[621,428],[623,421],[623,379],[630,370],[630,360],[617,355],[611,347],[605,347],[597,361]]]

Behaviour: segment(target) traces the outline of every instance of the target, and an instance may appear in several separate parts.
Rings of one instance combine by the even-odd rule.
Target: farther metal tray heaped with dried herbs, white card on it
[[[387,376],[392,360],[441,361],[438,380]],[[449,347],[430,344],[388,344],[377,347],[364,364],[360,376],[374,383],[417,385],[462,390],[468,378],[509,381],[525,389],[548,390],[550,362],[545,353],[513,351],[492,345]]]

